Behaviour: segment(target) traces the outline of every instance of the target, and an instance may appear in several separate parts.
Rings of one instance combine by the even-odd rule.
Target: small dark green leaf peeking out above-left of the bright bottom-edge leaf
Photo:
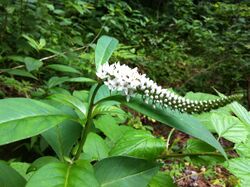
[[[36,159],[30,166],[27,168],[27,173],[32,171],[37,171],[41,167],[45,166],[48,163],[59,162],[59,160],[52,156],[44,156]]]

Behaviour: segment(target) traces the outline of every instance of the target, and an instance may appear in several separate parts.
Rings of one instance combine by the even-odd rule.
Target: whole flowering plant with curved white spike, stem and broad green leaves
[[[53,157],[40,157],[32,164],[21,163],[28,165],[21,175],[0,162],[0,186],[153,186],[159,177],[157,160],[176,156],[169,151],[172,133],[163,140],[145,129],[121,126],[127,114],[120,105],[217,150],[207,155],[227,158],[211,132],[190,114],[224,106],[237,96],[204,101],[181,97],[157,85],[137,68],[107,63],[117,44],[108,36],[98,40],[97,81],[73,79],[94,83],[90,91],[53,94],[46,100],[0,100],[0,145],[39,135],[55,152]]]

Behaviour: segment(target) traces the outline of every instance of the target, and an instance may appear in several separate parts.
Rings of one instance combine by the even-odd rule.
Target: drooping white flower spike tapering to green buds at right
[[[163,107],[169,107],[180,112],[206,112],[225,106],[238,99],[238,96],[233,95],[214,100],[190,100],[157,85],[146,74],[140,74],[137,68],[132,69],[125,64],[121,65],[119,62],[111,65],[108,63],[103,64],[98,69],[96,75],[111,91],[124,93],[127,96],[127,100],[138,93],[143,96],[146,103],[151,101],[153,107],[156,104],[160,104]]]

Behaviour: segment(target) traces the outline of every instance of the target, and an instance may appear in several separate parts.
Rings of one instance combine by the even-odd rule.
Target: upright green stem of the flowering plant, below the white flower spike
[[[88,109],[86,125],[85,125],[85,127],[84,127],[84,129],[82,131],[79,147],[77,149],[76,155],[73,158],[73,160],[77,160],[80,157],[80,155],[82,153],[83,145],[84,145],[84,143],[85,143],[85,141],[87,139],[87,135],[91,130],[91,123],[92,123],[91,115],[92,115],[92,111],[93,111],[93,108],[94,108],[94,99],[95,99],[96,93],[97,93],[98,89],[100,88],[100,86],[101,86],[101,84],[98,84],[96,86],[96,88],[94,89],[93,94],[91,95],[90,102],[89,102],[89,109]]]

